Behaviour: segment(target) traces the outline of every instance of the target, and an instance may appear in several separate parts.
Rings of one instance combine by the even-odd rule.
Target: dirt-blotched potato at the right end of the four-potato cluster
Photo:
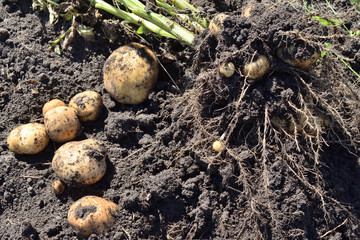
[[[69,107],[76,109],[76,115],[81,122],[94,121],[103,107],[101,95],[94,91],[85,91],[71,98]]]

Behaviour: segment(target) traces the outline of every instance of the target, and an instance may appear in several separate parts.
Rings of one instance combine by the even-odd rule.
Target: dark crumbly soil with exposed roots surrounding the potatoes
[[[251,16],[241,16],[249,2]],[[103,14],[92,24],[94,41],[75,35],[58,55],[47,48],[68,22],[49,24],[48,11],[29,0],[0,0],[0,238],[80,239],[67,212],[96,195],[121,210],[109,232],[88,239],[359,239],[360,79],[340,59],[360,72],[360,40],[313,16],[341,16],[356,31],[360,14],[345,0],[329,1],[337,16],[326,3],[306,2],[313,15],[303,1],[192,1],[208,18],[229,15],[217,38],[206,30],[195,47],[140,39],[116,21],[106,35]],[[136,106],[117,103],[102,79],[106,58],[132,41],[152,48],[164,66]],[[276,52],[293,45],[293,55],[306,59],[329,42],[309,69]],[[238,67],[229,78],[218,71],[259,55],[271,67],[258,81]],[[6,138],[20,124],[43,122],[47,101],[68,103],[85,90],[100,93],[105,108],[77,140],[104,142],[107,172],[55,195],[51,161],[61,144],[18,155]],[[211,147],[217,139],[219,153]]]

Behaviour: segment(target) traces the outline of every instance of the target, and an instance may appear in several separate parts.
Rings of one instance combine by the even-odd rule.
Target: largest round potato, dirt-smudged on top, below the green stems
[[[106,60],[104,69],[106,91],[123,104],[144,102],[154,87],[159,63],[146,46],[131,43],[115,50]]]

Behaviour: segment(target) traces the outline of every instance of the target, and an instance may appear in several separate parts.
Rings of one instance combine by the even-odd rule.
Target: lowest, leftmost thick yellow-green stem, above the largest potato
[[[168,38],[178,39],[175,35],[169,33],[168,31],[158,27],[157,25],[137,16],[136,14],[129,13],[118,9],[103,0],[89,0],[89,2],[95,6],[97,9],[104,10],[108,13],[111,13],[114,16],[117,16],[127,22],[133,23],[137,26],[145,27],[146,29],[152,31],[153,33]]]

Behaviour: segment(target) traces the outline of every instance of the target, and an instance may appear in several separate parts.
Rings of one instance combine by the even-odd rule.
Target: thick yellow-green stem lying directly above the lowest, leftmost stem
[[[167,17],[154,13],[152,11],[146,11],[145,5],[138,0],[117,0],[129,8],[134,14],[152,22],[158,27],[164,29],[172,35],[175,35],[179,40],[192,43],[194,41],[194,34],[186,28],[180,26],[176,22],[168,19]]]

